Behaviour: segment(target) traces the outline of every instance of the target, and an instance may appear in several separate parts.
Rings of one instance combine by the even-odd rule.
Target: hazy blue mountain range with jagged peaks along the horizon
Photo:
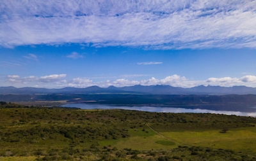
[[[256,94],[256,88],[246,86],[220,87],[200,85],[192,88],[172,87],[170,85],[134,85],[130,87],[100,88],[34,88],[34,87],[0,87],[0,94],[182,94],[182,95],[227,95],[227,94]]]

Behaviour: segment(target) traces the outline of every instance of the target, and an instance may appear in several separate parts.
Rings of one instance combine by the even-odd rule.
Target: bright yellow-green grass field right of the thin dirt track
[[[255,127],[230,129],[227,133],[221,133],[220,130],[204,130],[201,132],[161,132],[161,134],[179,143],[191,146],[223,148],[256,155]]]

